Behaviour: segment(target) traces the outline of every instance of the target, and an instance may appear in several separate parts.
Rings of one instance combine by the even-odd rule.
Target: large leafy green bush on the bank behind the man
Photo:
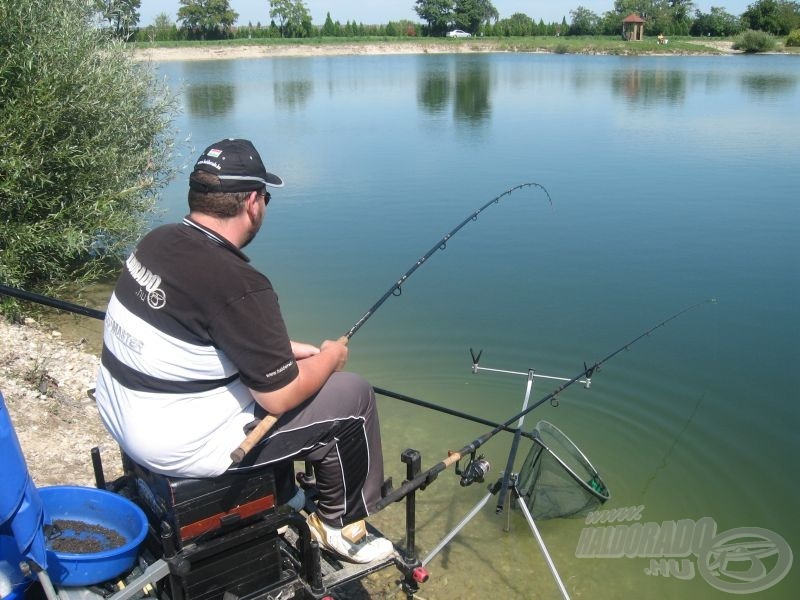
[[[177,103],[93,0],[0,2],[0,282],[118,271],[173,174]]]

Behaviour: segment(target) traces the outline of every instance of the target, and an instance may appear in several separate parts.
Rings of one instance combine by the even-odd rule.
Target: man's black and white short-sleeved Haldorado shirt
[[[270,281],[189,218],[155,229],[125,263],[106,313],[97,404],[136,462],[213,477],[252,421],[249,389],[298,374]]]

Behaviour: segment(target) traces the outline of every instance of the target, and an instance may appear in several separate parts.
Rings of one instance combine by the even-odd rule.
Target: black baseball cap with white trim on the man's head
[[[219,177],[219,185],[198,180],[199,171]],[[283,179],[267,171],[253,142],[233,138],[206,148],[189,176],[189,187],[197,192],[252,192],[267,185],[283,187]]]

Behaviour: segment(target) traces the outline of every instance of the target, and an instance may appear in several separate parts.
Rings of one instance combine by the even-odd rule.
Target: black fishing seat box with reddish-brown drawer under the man
[[[145,546],[169,566],[171,600],[278,598],[293,585],[279,529],[304,527],[310,547],[305,519],[280,508],[296,491],[293,463],[205,479],[154,473],[124,453],[122,464],[126,487],[151,525]]]

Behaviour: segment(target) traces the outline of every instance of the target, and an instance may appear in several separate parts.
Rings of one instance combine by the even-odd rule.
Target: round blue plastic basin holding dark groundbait
[[[136,561],[139,546],[147,535],[147,517],[133,502],[120,496],[90,487],[51,486],[39,488],[45,510],[53,522],[80,521],[99,525],[123,538],[114,548],[85,554],[47,550],[47,572],[53,583],[63,586],[93,585],[113,579],[128,571]],[[108,545],[97,531],[65,531],[80,539],[93,538]]]

